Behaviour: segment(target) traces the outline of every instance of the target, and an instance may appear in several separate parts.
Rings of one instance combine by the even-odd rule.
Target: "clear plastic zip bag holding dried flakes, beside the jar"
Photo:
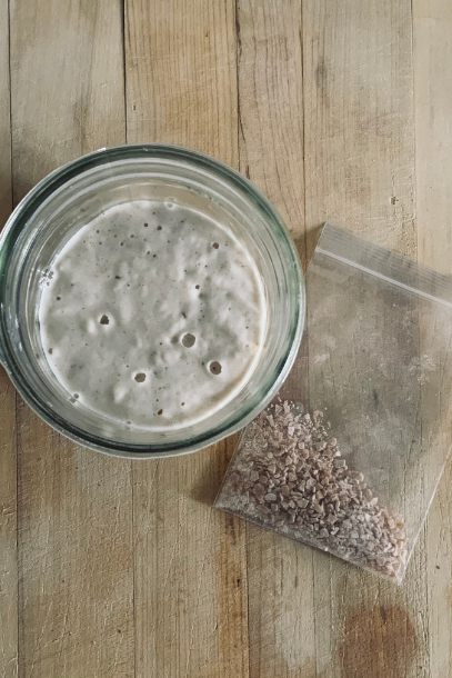
[[[452,281],[327,225],[307,298],[215,506],[401,584],[452,442]]]

